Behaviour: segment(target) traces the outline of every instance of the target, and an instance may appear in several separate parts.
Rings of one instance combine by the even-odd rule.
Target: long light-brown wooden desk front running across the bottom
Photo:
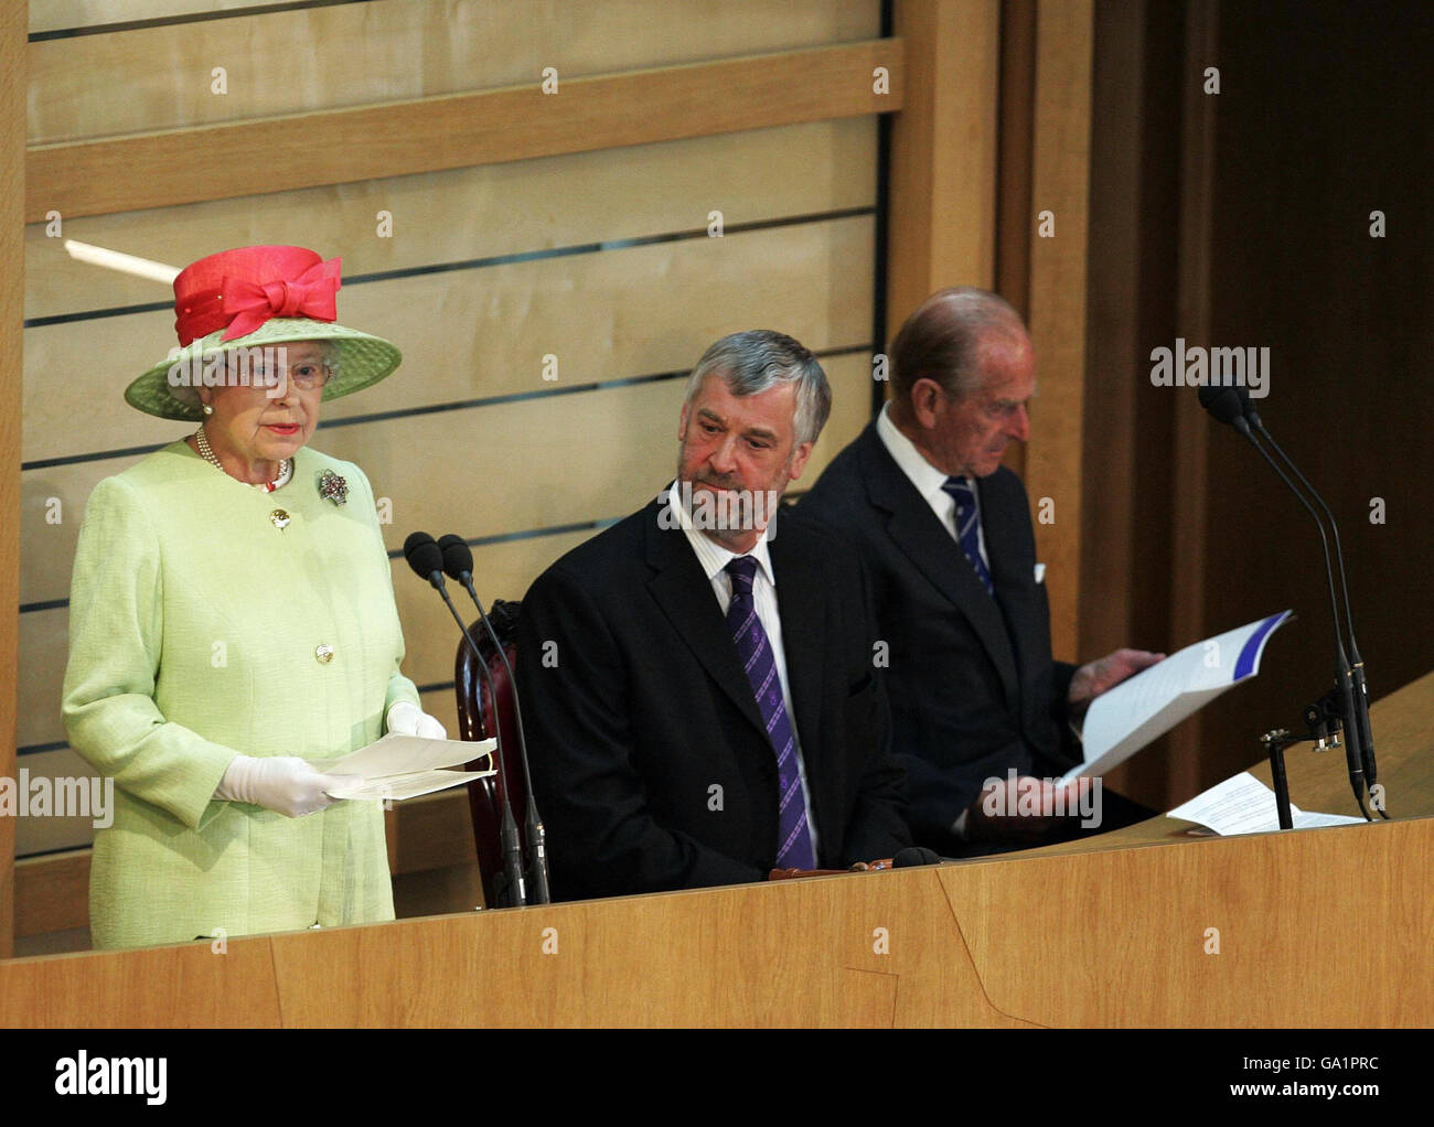
[[[1431,713],[1434,674],[1374,711],[1395,822],[1162,817],[922,869],[16,959],[0,1024],[1427,1025]],[[1288,757],[1296,804],[1354,812],[1342,753]]]

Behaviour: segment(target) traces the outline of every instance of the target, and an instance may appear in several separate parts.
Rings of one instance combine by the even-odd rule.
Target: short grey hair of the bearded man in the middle
[[[708,376],[718,376],[739,399],[779,383],[796,384],[797,409],[792,426],[797,446],[816,442],[832,413],[832,387],[816,357],[799,341],[770,328],[733,333],[703,353],[687,379],[687,407]]]

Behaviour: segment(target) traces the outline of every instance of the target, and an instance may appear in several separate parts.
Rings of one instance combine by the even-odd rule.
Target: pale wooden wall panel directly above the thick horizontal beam
[[[872,39],[879,4],[376,0],[30,47],[32,145]],[[155,60],[165,60],[156,66]],[[214,93],[214,67],[225,93]],[[123,96],[116,96],[118,92]],[[196,169],[198,173],[198,169]]]

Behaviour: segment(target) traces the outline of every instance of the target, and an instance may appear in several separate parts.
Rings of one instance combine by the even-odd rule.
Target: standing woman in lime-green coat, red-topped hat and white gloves
[[[75,559],[65,724],[116,784],[99,948],[393,919],[383,810],[323,763],[445,733],[399,671],[369,480],[307,446],[321,400],[400,360],[334,323],[338,285],[297,247],[195,262],[184,347],[125,393],[202,424],[96,486]]]

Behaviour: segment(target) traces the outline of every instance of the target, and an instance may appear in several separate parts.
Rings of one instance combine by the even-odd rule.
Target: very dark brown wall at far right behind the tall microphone
[[[1259,412],[1335,513],[1369,691],[1380,695],[1434,665],[1434,227],[1425,219],[1434,20],[1388,0],[1225,0],[1217,22],[1223,85],[1203,96],[1213,145],[1199,173],[1209,176],[1210,208],[1203,325],[1212,346],[1269,348]],[[1248,89],[1232,83],[1263,73],[1276,53],[1289,60],[1278,75]],[[1229,748],[1206,754],[1203,783],[1248,761],[1262,731],[1298,724],[1334,683],[1334,638],[1309,515],[1189,389],[1166,393],[1183,399],[1203,444],[1180,463],[1203,499],[1203,632],[1283,607],[1298,615],[1245,700],[1202,713],[1202,746]],[[1382,756],[1380,767],[1382,777]]]

